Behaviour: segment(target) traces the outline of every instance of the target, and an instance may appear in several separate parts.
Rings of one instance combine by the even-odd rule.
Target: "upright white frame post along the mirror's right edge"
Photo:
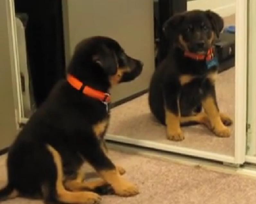
[[[247,111],[247,0],[236,0],[235,163],[244,163]]]

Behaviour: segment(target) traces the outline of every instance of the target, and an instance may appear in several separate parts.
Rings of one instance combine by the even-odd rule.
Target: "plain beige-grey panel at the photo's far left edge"
[[[13,56],[10,55],[9,0],[0,1],[0,149],[9,146],[17,133],[12,83]]]

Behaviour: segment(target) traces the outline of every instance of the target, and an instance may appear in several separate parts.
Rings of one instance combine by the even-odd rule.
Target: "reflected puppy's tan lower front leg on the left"
[[[180,126],[180,116],[176,116],[170,110],[165,109],[165,124],[167,128],[167,139],[174,141],[184,140]]]

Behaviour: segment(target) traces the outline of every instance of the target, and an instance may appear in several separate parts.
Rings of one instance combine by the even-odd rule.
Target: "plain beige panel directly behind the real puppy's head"
[[[63,16],[67,61],[81,39],[103,35],[144,62],[139,78],[112,90],[112,102],[148,87],[154,71],[152,0],[63,0]]]

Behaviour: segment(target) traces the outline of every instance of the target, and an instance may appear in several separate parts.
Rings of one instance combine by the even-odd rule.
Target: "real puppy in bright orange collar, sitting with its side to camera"
[[[10,147],[8,184],[0,190],[0,200],[20,195],[92,204],[100,196],[90,191],[105,184],[117,195],[136,195],[137,187],[120,176],[124,170],[107,157],[102,141],[110,117],[110,87],[133,80],[142,67],[113,39],[91,37],[80,42],[67,80],[57,83]],[[102,179],[83,182],[84,162]]]

